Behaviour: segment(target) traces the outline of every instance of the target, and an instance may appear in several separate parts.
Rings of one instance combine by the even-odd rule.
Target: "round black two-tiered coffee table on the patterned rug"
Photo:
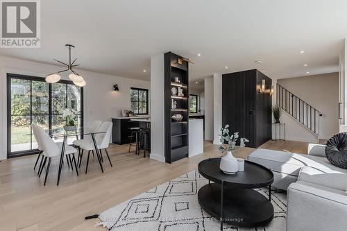
[[[245,161],[244,171],[234,176],[219,169],[221,158],[210,158],[198,164],[198,172],[209,180],[198,191],[198,203],[211,216],[239,227],[257,227],[273,219],[271,184],[273,173],[266,167]],[[214,182],[214,183],[211,183]],[[253,190],[269,186],[269,198]]]

